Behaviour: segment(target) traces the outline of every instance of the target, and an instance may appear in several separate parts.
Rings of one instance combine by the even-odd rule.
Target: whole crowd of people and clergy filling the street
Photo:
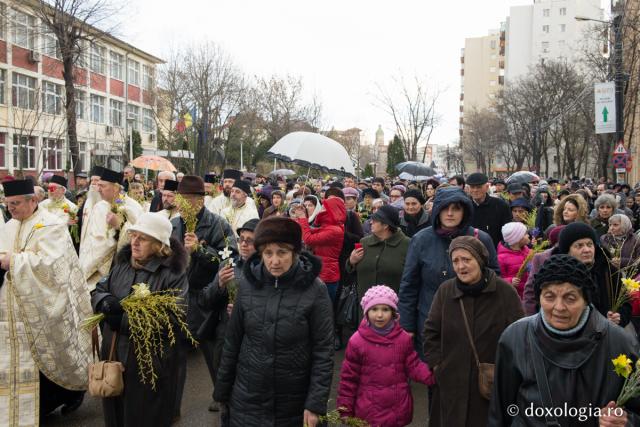
[[[640,279],[640,187],[96,166],[2,189],[0,425],[82,404],[94,313],[100,356],[124,366],[107,426],[179,419],[198,351],[223,425],[314,427],[343,349],[336,407],[371,426],[408,425],[414,399],[430,426],[640,425],[611,365],[638,359],[640,293],[619,297]],[[123,309],[139,283],[185,306],[153,388]],[[565,404],[602,412],[525,414]]]

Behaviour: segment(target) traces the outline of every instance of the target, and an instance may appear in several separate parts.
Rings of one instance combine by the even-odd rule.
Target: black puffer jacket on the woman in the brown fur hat
[[[305,252],[278,278],[259,254],[245,263],[214,390],[232,426],[300,427],[305,409],[326,413],[333,317],[320,268]]]

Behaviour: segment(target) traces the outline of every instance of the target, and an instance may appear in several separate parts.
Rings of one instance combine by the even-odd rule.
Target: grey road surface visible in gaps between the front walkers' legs
[[[340,364],[344,358],[344,351],[336,353],[336,364],[331,390],[329,406],[335,408],[336,387],[340,375]],[[415,409],[411,426],[424,427],[427,425],[426,386],[413,385]],[[218,415],[207,410],[211,399],[212,385],[204,359],[199,352],[189,355],[187,384],[182,399],[182,418],[174,424],[175,427],[217,427]],[[49,416],[43,423],[46,427],[98,427],[103,426],[102,407],[100,400],[87,395],[82,406],[73,414],[62,417],[59,412]]]

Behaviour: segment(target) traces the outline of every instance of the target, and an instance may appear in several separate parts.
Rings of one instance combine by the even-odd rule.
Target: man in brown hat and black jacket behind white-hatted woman
[[[222,217],[214,214],[204,207],[204,181],[199,176],[186,175],[178,184],[178,194],[185,198],[198,212],[195,231],[187,231],[184,218],[188,217],[184,212],[181,216],[171,221],[173,232],[171,237],[184,244],[190,256],[187,269],[189,291],[187,292],[187,325],[189,331],[198,339],[200,349],[207,362],[211,382],[215,378],[213,369],[214,342],[208,337],[198,336],[198,330],[205,320],[207,313],[198,306],[198,295],[202,289],[211,283],[212,277],[218,272],[221,260],[221,252],[230,251],[234,254],[238,251],[236,238],[229,223]],[[222,255],[224,257],[224,255]],[[183,349],[186,347],[182,343]],[[178,370],[178,401],[176,402],[176,415],[180,413],[182,391],[186,380],[185,364]]]

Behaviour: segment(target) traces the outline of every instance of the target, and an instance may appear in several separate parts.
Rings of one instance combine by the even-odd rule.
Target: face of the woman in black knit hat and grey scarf
[[[587,302],[580,289],[571,283],[547,285],[540,294],[542,315],[549,325],[567,330],[580,320]]]

